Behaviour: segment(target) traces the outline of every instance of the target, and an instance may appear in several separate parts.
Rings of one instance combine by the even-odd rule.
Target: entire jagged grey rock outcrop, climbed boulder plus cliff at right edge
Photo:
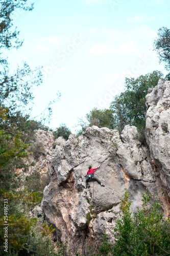
[[[71,134],[56,146],[48,167],[51,182],[44,188],[42,208],[62,242],[78,239],[82,234],[98,240],[104,232],[113,242],[113,226],[126,188],[133,212],[141,207],[141,193],[148,187],[152,200],[158,195],[168,215],[169,92],[169,82],[160,80],[147,95],[148,145],[140,142],[136,127],[126,125],[121,136],[116,130],[92,126],[78,139]],[[99,164],[94,176],[105,187],[90,182],[88,189],[84,174],[89,165]]]

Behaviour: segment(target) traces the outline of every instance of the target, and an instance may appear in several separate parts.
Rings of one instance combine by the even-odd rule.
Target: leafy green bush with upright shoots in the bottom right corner
[[[123,215],[114,227],[115,245],[111,246],[104,240],[100,250],[112,252],[114,256],[149,256],[169,255],[170,253],[170,219],[163,218],[161,204],[158,200],[150,203],[151,195],[142,194],[142,209],[132,218],[129,193],[126,190],[120,209]],[[108,255],[108,254],[102,254]]]

